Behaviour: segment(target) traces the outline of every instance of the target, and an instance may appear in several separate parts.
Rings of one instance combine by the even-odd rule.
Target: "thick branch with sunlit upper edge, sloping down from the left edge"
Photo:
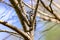
[[[19,33],[22,37],[27,38],[27,39],[30,39],[30,37],[28,36],[27,33],[25,33],[25,32],[23,32],[23,31],[17,29],[15,26],[12,26],[11,24],[9,24],[9,23],[7,23],[7,22],[5,22],[5,21],[2,21],[2,20],[0,20],[0,24],[2,24],[2,25],[4,25],[4,26],[7,26],[8,28],[16,31],[16,32]]]

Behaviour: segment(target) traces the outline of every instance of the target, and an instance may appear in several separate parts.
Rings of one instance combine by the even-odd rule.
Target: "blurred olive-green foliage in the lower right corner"
[[[48,27],[55,23],[49,24]],[[46,32],[46,40],[60,40],[60,24],[52,26],[53,28]]]

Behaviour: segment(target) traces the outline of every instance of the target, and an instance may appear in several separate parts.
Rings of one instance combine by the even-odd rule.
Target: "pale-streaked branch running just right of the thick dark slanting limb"
[[[29,20],[28,20],[28,18],[27,18],[27,15],[26,15],[27,13],[26,13],[26,11],[24,10],[24,5],[22,4],[23,1],[22,1],[22,0],[17,0],[17,1],[18,1],[18,4],[19,4],[20,9],[22,10],[22,15],[23,15],[23,16],[25,17],[25,19],[26,19],[24,22],[25,22],[26,25],[29,26],[30,23],[29,23]],[[27,30],[28,26],[25,26],[26,30]],[[27,32],[29,32],[29,31],[30,31],[30,29],[29,29]]]

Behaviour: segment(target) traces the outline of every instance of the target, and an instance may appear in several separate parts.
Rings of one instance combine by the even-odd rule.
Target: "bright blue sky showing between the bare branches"
[[[5,0],[5,1],[7,3],[9,3],[8,0]],[[30,1],[25,0],[25,2],[29,3]],[[10,24],[12,24],[14,26],[17,26],[18,28],[22,27],[20,22],[19,22],[19,19],[18,19],[17,15],[16,15],[16,12],[14,11],[14,9],[7,6],[7,5],[5,5],[5,4],[2,4],[2,3],[0,3],[0,20],[7,21],[8,23],[10,23]],[[42,31],[44,29],[43,27],[41,28],[41,26],[43,26],[43,24],[44,23],[42,23],[42,22],[37,23],[37,30],[35,32],[35,40],[37,40],[39,38],[39,36],[40,36],[39,31]],[[5,30],[9,30],[9,31],[11,30],[11,29],[3,26],[3,25],[0,25],[0,29],[5,29]],[[9,35],[9,34],[0,33],[0,40],[2,40],[7,35]],[[43,40],[43,39],[41,39],[41,40]]]

